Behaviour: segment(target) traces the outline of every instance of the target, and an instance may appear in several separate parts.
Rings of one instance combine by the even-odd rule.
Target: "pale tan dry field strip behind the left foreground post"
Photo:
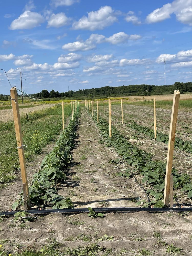
[[[44,108],[46,109],[48,107],[50,107],[50,105],[48,105],[48,104],[38,105],[38,106],[30,107],[30,108],[19,109],[19,112],[20,112],[20,115],[24,115],[29,112],[44,110]],[[0,110],[0,122],[7,122],[7,121],[12,121],[12,120],[13,120],[12,109]]]

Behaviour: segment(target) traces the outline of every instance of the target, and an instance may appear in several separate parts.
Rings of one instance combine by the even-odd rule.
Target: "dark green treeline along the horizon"
[[[156,95],[173,93],[174,90],[179,90],[180,93],[192,92],[192,82],[180,83],[175,82],[167,86],[155,86],[148,84],[135,84],[128,86],[105,86],[101,88],[83,89],[78,91],[61,92],[51,90],[42,90],[33,94],[37,98],[66,98],[66,97],[108,97],[108,96],[131,96],[131,95]]]

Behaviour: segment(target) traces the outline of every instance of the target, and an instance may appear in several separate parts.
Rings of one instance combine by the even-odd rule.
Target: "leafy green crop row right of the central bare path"
[[[97,123],[97,116],[93,115],[93,120],[99,127],[101,132],[101,143],[105,143],[108,147],[113,147],[121,158],[131,165],[134,170],[126,170],[124,174],[120,176],[129,177],[134,174],[143,175],[142,182],[151,186],[151,189],[147,190],[147,193],[154,198],[147,205],[153,205],[154,207],[163,207],[163,190],[165,187],[165,173],[166,163],[161,161],[153,161],[152,154],[145,152],[131,144],[127,139],[112,125],[111,133],[112,137],[109,137],[109,124],[103,118],[99,117],[99,123]],[[131,175],[130,175],[131,172]],[[181,188],[182,191],[188,193],[188,198],[192,197],[192,184],[190,176],[187,174],[178,173],[177,169],[172,169],[173,173],[173,185],[175,189]],[[139,201],[138,204],[141,204]],[[146,205],[146,204],[145,204]]]

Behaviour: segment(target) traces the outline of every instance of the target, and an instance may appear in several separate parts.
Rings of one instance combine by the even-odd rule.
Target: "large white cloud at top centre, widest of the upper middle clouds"
[[[73,29],[96,30],[112,25],[117,21],[114,10],[111,6],[102,6],[97,11],[88,13],[88,16],[83,16],[78,21],[74,22]]]

